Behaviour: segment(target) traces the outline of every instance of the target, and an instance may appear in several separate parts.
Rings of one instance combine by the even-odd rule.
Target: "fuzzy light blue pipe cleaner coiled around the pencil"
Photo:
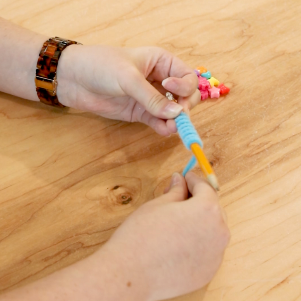
[[[198,143],[203,148],[203,141],[186,113],[181,112],[180,115],[175,118],[175,121],[179,135],[187,149],[191,150],[192,143]],[[183,171],[184,177],[194,168],[196,163],[196,157],[193,155]]]

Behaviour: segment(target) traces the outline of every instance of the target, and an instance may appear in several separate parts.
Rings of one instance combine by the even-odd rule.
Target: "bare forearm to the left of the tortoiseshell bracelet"
[[[39,101],[36,67],[48,38],[0,18],[0,91]]]

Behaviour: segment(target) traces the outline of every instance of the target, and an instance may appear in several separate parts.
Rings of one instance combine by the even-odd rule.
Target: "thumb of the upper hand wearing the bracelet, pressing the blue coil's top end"
[[[125,93],[141,103],[150,114],[162,119],[173,119],[183,110],[182,105],[168,100],[142,74],[135,74],[131,82]]]

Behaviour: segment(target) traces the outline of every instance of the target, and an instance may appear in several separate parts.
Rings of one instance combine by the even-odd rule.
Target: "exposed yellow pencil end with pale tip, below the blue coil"
[[[206,158],[205,154],[203,153],[203,150],[201,146],[198,143],[192,143],[191,144],[191,150],[195,157],[197,158],[199,165],[201,167],[202,172],[204,173],[205,177],[207,178],[207,181],[211,184],[211,186],[216,190],[219,191],[219,185],[217,182],[216,175]]]

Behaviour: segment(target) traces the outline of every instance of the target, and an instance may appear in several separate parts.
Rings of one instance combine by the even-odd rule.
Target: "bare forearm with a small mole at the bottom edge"
[[[100,250],[101,251],[101,250]],[[125,258],[96,252],[30,285],[0,295],[0,301],[144,301],[145,286]],[[141,281],[139,279],[138,281]]]

